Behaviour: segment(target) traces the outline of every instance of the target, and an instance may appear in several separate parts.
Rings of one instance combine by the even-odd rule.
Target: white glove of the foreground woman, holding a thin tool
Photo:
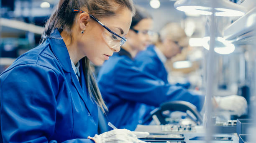
[[[135,132],[127,129],[114,129],[94,137],[88,137],[95,143],[146,143],[138,138],[144,138],[149,135],[148,132]]]

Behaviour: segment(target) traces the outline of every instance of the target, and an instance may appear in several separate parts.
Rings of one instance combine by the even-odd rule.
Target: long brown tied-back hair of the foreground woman
[[[72,12],[72,9],[83,10],[96,18],[101,18],[114,16],[118,10],[123,8],[128,8],[128,10],[134,14],[135,10],[132,0],[60,0],[53,14],[46,22],[41,43],[44,42],[47,37],[50,37],[55,29],[60,33],[65,31],[72,42],[73,37],[71,28],[77,15],[76,12]],[[84,65],[82,65],[84,68],[84,77],[86,78],[89,95],[96,101],[98,106],[100,106],[102,112],[105,113],[105,110],[108,111],[108,108],[102,99],[100,90],[92,74],[90,60],[87,57],[84,57],[82,60],[84,63]]]

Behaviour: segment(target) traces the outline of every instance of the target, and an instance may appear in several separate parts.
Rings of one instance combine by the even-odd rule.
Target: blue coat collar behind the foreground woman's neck
[[[55,29],[48,40],[54,55],[61,64],[62,69],[64,69],[66,72],[71,72],[73,69],[70,62],[69,52],[59,31]]]

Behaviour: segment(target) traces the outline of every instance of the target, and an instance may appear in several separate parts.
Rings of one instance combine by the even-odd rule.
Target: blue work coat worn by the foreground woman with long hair
[[[94,143],[97,105],[79,71],[81,85],[58,30],[18,57],[0,75],[0,142]]]

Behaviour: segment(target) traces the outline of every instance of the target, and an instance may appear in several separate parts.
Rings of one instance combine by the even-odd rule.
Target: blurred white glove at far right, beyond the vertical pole
[[[224,97],[215,97],[218,108],[224,110],[231,110],[236,115],[241,116],[246,113],[247,101],[244,97],[238,95],[230,95]]]

